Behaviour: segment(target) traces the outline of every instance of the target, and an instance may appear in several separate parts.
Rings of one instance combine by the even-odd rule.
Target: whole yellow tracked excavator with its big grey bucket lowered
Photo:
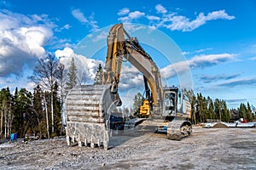
[[[65,101],[67,144],[90,144],[108,150],[109,116],[119,97],[119,79],[123,60],[128,60],[143,74],[146,99],[141,116],[149,116],[147,124],[166,127],[169,139],[182,139],[192,133],[191,105],[175,87],[162,87],[160,70],[152,57],[130,37],[123,24],[114,25],[108,35],[108,52],[104,71],[97,75],[97,84],[81,85],[70,90]],[[149,86],[148,86],[149,85]]]

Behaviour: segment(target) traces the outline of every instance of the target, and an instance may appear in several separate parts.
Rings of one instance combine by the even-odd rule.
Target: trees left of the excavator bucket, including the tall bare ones
[[[31,81],[35,82],[33,92],[26,88],[9,88],[0,91],[0,139],[9,139],[11,133],[19,138],[26,134],[40,139],[59,136],[62,133],[63,101],[68,90],[76,86],[74,59],[65,70],[55,56],[38,59]]]

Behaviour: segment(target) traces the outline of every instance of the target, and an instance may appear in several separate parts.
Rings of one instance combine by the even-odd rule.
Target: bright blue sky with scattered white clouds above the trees
[[[85,69],[81,75],[90,82],[96,66],[104,63],[108,29],[123,22],[131,36],[142,40],[168,85],[187,83],[189,77],[195,93],[225,99],[230,108],[247,101],[256,105],[255,8],[253,0],[0,0],[0,88],[32,89],[27,77],[47,53],[62,57],[66,68],[70,56],[77,56]],[[96,35],[101,42],[90,44]],[[166,44],[173,48],[164,49]],[[142,79],[131,65],[123,72],[123,88],[132,91],[142,84],[125,84]]]

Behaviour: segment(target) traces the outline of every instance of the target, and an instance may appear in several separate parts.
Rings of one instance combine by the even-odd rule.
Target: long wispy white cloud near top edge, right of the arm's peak
[[[235,16],[229,15],[225,10],[212,11],[205,15],[204,13],[195,13],[195,19],[190,19],[187,16],[177,14],[177,12],[168,12],[164,6],[157,4],[155,6],[156,15],[146,14],[141,11],[130,12],[128,8],[119,10],[119,21],[123,23],[135,22],[142,19],[144,16],[148,20],[148,26],[152,28],[164,27],[171,31],[194,31],[200,26],[203,26],[210,20],[234,20]],[[179,11],[180,9],[177,8]]]

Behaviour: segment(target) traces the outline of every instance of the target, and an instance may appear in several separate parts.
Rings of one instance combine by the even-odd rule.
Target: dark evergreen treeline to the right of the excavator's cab
[[[256,118],[249,102],[241,103],[237,109],[229,110],[224,99],[213,100],[209,96],[204,97],[201,93],[195,95],[193,90],[184,89],[183,93],[191,104],[193,124],[208,121],[234,122],[239,118],[252,122]]]

